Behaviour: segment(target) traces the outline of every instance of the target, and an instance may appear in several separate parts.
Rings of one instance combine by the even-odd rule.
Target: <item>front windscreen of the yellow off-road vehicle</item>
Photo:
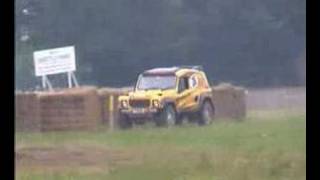
[[[176,85],[174,75],[142,75],[138,80],[138,90],[173,89]]]

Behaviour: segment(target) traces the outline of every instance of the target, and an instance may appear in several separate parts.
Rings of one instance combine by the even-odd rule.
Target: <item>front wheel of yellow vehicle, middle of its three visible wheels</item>
[[[172,127],[176,121],[177,113],[172,105],[166,105],[155,117],[155,123],[159,127]]]

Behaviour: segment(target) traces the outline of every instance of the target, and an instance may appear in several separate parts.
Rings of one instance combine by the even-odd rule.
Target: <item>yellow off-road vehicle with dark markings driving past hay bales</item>
[[[167,127],[186,119],[207,125],[214,116],[212,90],[200,66],[147,70],[139,75],[134,90],[118,101],[121,128],[147,120]]]

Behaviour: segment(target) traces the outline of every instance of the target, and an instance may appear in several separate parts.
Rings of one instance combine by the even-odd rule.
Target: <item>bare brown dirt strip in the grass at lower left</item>
[[[133,154],[134,153],[134,154]],[[139,153],[98,147],[32,147],[19,148],[15,153],[16,168],[63,170],[70,167],[110,169],[118,164],[139,161]]]

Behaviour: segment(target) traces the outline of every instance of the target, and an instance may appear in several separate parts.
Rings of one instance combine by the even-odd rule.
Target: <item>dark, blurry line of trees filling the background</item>
[[[202,65],[212,83],[304,84],[305,0],[16,0],[16,89],[33,51],[74,45],[81,84],[127,86],[153,67]],[[59,86],[65,77],[52,77]]]

